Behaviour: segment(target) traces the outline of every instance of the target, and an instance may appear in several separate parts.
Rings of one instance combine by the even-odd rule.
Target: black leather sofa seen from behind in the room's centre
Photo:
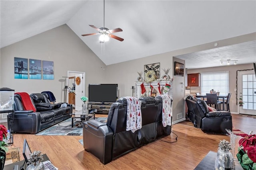
[[[134,133],[126,131],[127,102],[120,98],[113,103],[106,123],[89,120],[83,123],[84,149],[107,164],[112,160],[138,149],[166,135],[171,126],[162,125],[162,98],[143,97],[142,128]]]

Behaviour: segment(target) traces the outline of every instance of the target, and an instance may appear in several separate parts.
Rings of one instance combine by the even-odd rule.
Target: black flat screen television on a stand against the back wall
[[[113,103],[118,98],[118,84],[89,84],[89,102]]]

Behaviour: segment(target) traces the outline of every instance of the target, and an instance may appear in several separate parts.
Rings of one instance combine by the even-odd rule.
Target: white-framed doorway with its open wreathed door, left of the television
[[[67,76],[69,80],[67,101],[70,101],[69,96],[74,95],[72,105],[76,111],[81,110],[82,100],[80,98],[81,96],[85,96],[85,72],[68,70]],[[76,79],[79,79],[79,82]]]

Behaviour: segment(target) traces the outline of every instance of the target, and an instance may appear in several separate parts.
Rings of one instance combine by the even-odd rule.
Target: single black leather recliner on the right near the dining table
[[[205,133],[223,133],[232,131],[232,116],[229,111],[209,111],[204,100],[188,96],[188,118],[194,127],[201,128]]]

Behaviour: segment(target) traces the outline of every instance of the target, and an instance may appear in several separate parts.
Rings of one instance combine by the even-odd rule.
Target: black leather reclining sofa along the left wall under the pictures
[[[70,117],[72,106],[63,103],[51,104],[46,94],[30,94],[30,100],[36,111],[25,110],[22,98],[19,94],[14,94],[14,113],[8,115],[8,129],[13,129],[14,133],[36,134],[56,123]],[[13,123],[10,123],[10,122]],[[11,127],[12,126],[12,127]]]

